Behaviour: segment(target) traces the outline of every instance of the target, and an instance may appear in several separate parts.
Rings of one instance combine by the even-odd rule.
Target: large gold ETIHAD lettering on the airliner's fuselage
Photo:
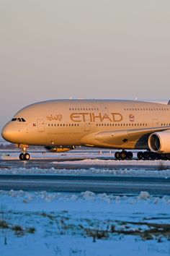
[[[122,114],[120,113],[111,113],[111,114],[102,114],[101,112],[99,113],[72,113],[70,115],[71,121],[74,122],[95,122],[95,121],[109,121],[109,122],[114,122],[114,121],[122,121],[123,117]]]

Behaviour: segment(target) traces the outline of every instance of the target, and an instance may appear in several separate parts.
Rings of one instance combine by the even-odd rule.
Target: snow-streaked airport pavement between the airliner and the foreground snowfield
[[[48,192],[170,195],[170,161],[116,161],[107,151],[53,154],[0,153],[0,189]]]

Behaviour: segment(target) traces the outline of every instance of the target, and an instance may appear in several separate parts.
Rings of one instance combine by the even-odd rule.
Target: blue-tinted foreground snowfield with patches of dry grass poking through
[[[0,255],[170,252],[170,197],[0,191]]]

